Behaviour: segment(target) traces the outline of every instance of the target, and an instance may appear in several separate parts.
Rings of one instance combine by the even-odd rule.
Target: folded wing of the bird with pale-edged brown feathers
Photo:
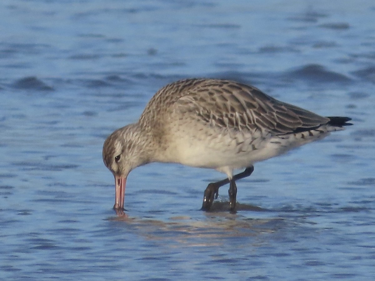
[[[307,131],[329,122],[329,118],[280,102],[257,88],[218,79],[201,80],[179,97],[176,106],[185,117],[211,126],[271,135]]]

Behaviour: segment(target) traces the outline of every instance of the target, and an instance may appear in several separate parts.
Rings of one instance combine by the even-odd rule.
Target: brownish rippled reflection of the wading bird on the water
[[[266,211],[257,206],[238,204],[238,211]],[[199,211],[199,216],[177,215],[165,220],[121,215],[108,221],[124,223],[147,239],[177,242],[189,246],[222,245],[230,238],[255,238],[285,228],[282,218],[248,218],[242,214],[230,214],[228,202],[214,202],[210,212]]]

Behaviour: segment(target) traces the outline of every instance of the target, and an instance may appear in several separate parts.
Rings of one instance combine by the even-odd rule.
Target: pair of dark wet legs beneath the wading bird
[[[233,178],[231,179],[231,182],[233,182],[233,184],[231,183],[229,192],[230,190],[232,190],[232,194],[234,195],[234,199],[233,199],[233,196],[231,197],[231,193],[229,193],[229,200],[230,200],[229,204],[230,204],[231,210],[232,210],[232,206],[234,207],[236,206],[237,187],[236,187],[235,181],[237,181],[237,179],[246,178],[247,176],[251,175],[253,171],[254,171],[254,166],[247,167],[245,171],[237,175],[234,175]],[[206,190],[204,191],[203,204],[202,204],[202,209],[201,209],[202,211],[210,210],[213,200],[217,199],[217,196],[219,196],[219,187],[228,183],[229,183],[229,179],[223,179],[222,181],[211,182],[210,184],[208,184]],[[234,190],[236,191],[233,192]],[[234,200],[234,204],[233,204],[233,200]],[[233,210],[234,210],[234,207],[233,207]]]

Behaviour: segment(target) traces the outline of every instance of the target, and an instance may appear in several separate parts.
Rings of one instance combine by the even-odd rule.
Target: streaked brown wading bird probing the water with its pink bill
[[[252,167],[321,139],[350,125],[349,120],[321,117],[234,81],[186,79],[168,84],[151,98],[137,123],[116,130],[104,142],[104,163],[117,189],[123,189],[116,192],[114,208],[123,209],[124,181],[135,167],[181,163],[216,169],[231,181],[233,169]],[[232,184],[235,188],[234,179]],[[207,204],[204,209],[212,202]]]

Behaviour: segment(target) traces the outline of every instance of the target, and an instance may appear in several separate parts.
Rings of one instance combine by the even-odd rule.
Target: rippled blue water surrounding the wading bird
[[[3,0],[0,280],[374,280],[374,1]],[[150,164],[118,218],[102,144],[163,85],[230,78],[354,126],[218,172]]]

